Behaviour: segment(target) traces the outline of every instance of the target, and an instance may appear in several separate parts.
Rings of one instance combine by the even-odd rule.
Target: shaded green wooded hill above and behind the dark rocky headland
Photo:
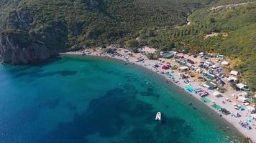
[[[173,26],[186,22],[186,15],[203,0],[55,0],[1,2],[1,27],[34,32],[55,23],[68,29],[68,44],[110,44],[138,29]],[[22,17],[19,14],[30,16]]]

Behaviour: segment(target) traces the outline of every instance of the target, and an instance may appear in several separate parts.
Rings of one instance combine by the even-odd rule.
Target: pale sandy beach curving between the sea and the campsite
[[[148,50],[152,50],[152,49],[148,49]],[[146,51],[148,51],[148,50],[146,50]],[[184,89],[186,86],[193,87],[193,89],[199,89],[199,88],[204,89],[206,92],[209,92],[209,95],[206,98],[211,101],[211,102],[208,102],[205,104],[209,108],[214,109],[213,107],[211,107],[211,105],[213,103],[215,103],[215,104],[220,105],[222,108],[227,109],[229,112],[231,112],[231,114],[229,114],[229,115],[224,115],[221,112],[214,109],[214,111],[217,114],[219,114],[223,119],[227,120],[227,122],[232,124],[239,132],[244,134],[245,137],[250,137],[252,142],[256,143],[256,125],[255,125],[256,122],[253,120],[252,120],[252,122],[250,122],[250,126],[252,127],[252,129],[246,129],[239,124],[240,121],[246,121],[248,118],[250,118],[250,112],[247,109],[245,109],[244,111],[238,111],[237,109],[234,108],[234,104],[244,106],[241,102],[238,102],[237,99],[232,97],[232,94],[239,94],[240,93],[239,91],[235,91],[234,89],[228,89],[227,92],[224,92],[224,94],[222,94],[224,97],[218,98],[213,95],[214,92],[216,92],[216,89],[210,90],[210,89],[206,89],[205,87],[202,87],[203,82],[200,82],[200,81],[196,80],[195,78],[191,78],[191,77],[188,77],[188,79],[186,79],[186,81],[184,79],[182,79],[180,77],[180,74],[184,74],[184,72],[181,72],[178,69],[176,69],[176,70],[162,69],[162,66],[165,64],[170,64],[171,66],[176,65],[179,67],[179,65],[175,62],[174,59],[160,58],[157,60],[150,60],[150,59],[147,59],[145,54],[141,54],[141,53],[129,54],[127,49],[117,49],[116,52],[118,54],[114,54],[114,55],[106,54],[106,52],[104,52],[103,49],[97,48],[97,49],[84,49],[81,51],[70,51],[70,52],[66,52],[63,54],[104,56],[104,57],[109,57],[109,58],[114,58],[114,59],[120,59],[122,61],[127,62],[127,64],[137,64],[137,65],[143,66],[147,69],[150,69],[150,70],[160,74],[161,76],[165,77],[165,79],[167,79],[168,81],[177,85],[181,89]],[[151,52],[153,52],[153,51],[151,51]],[[198,59],[196,59],[196,58],[193,58],[186,54],[182,54],[182,55],[188,57],[189,59],[191,59],[193,61],[198,62],[197,61]],[[138,62],[137,61],[138,58],[142,58],[143,60]],[[159,64],[160,66],[153,67],[155,64]],[[171,73],[173,75],[173,78],[168,77],[167,73]],[[187,81],[189,81],[189,82],[187,82]],[[188,90],[186,90],[186,92],[188,92]],[[201,97],[198,94],[196,94],[195,92],[188,92],[188,93],[192,94],[193,97],[195,97],[196,99],[201,101]],[[227,98],[230,99],[230,102],[225,101],[225,99],[227,99]],[[232,113],[235,113],[235,112],[238,112],[241,115],[241,117],[232,116]]]

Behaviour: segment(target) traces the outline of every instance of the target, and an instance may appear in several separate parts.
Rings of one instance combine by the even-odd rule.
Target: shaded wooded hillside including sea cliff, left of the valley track
[[[0,59],[9,64],[29,64],[71,46],[124,43],[139,29],[184,24],[192,9],[210,2],[0,0]]]

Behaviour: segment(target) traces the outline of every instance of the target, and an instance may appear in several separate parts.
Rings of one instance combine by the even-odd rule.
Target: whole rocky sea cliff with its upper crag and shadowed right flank
[[[26,7],[3,14],[0,11],[0,63],[35,64],[67,47],[65,22],[35,24],[32,12]]]

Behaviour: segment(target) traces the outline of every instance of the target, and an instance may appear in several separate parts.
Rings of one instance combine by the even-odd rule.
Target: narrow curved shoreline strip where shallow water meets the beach
[[[77,54],[77,53],[63,53],[61,54],[63,56],[82,56],[81,53]],[[234,134],[232,135],[236,135],[237,137],[239,137],[239,139],[242,139],[243,137],[247,137],[247,134],[244,134],[244,132],[241,132],[239,130],[239,128],[237,128],[234,124],[232,124],[232,122],[229,121],[228,118],[225,118],[223,115],[221,115],[219,112],[217,112],[216,110],[211,108],[210,104],[204,104],[203,102],[201,102],[200,98],[198,96],[196,96],[195,93],[191,93],[186,91],[182,85],[180,84],[175,84],[173,81],[171,81],[170,79],[168,79],[168,77],[166,77],[163,74],[160,74],[159,72],[155,72],[153,69],[150,69],[148,66],[145,66],[143,64],[138,64],[136,62],[129,62],[129,61],[125,61],[122,58],[116,58],[114,56],[102,56],[102,55],[86,55],[86,56],[92,56],[95,58],[101,58],[101,59],[108,59],[108,60],[115,60],[115,61],[119,61],[122,62],[123,64],[132,64],[132,66],[137,66],[136,68],[140,68],[143,71],[149,72],[150,74],[154,74],[155,77],[160,79],[160,82],[163,82],[163,85],[167,85],[168,87],[173,87],[180,90],[180,92],[182,92],[183,94],[186,94],[186,98],[188,98],[191,102],[193,102],[193,104],[196,104],[196,107],[201,107],[199,109],[201,109],[202,114],[211,117],[213,119],[217,119],[219,122],[221,122],[221,126],[223,127],[222,129],[224,130],[230,130],[230,132],[234,132]],[[206,108],[204,108],[206,107]],[[204,109],[204,111],[203,111]],[[221,116],[220,116],[221,115]],[[252,142],[254,142],[252,140]]]

